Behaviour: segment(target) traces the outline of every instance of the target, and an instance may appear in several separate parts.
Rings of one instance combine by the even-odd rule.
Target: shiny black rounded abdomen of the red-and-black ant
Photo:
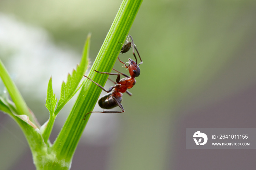
[[[122,102],[122,97],[116,97],[117,100]],[[117,107],[118,104],[114,101],[112,93],[105,94],[102,96],[98,101],[99,107],[103,109],[112,109],[114,107]]]

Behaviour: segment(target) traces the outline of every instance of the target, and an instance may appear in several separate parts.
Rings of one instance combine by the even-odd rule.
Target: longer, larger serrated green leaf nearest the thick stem
[[[67,104],[71,97],[74,96],[74,94],[77,92],[78,85],[83,78],[84,73],[86,72],[89,61],[88,55],[90,47],[90,37],[91,35],[89,34],[84,45],[83,56],[80,64],[77,65],[76,70],[74,69],[72,74],[68,74],[67,82],[62,82],[60,100],[58,102],[54,115],[57,115],[60,112],[61,108],[63,108],[64,105]]]

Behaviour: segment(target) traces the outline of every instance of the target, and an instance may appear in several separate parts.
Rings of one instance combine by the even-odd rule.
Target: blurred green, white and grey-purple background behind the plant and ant
[[[50,76],[59,99],[87,34],[93,62],[120,4],[0,1],[0,58],[41,124]],[[124,113],[91,116],[71,170],[255,169],[254,150],[185,149],[185,128],[256,128],[255,16],[254,0],[145,0],[129,32],[143,59],[133,96],[124,94]],[[59,113],[52,142],[74,101]],[[35,169],[22,131],[4,113],[0,166]]]

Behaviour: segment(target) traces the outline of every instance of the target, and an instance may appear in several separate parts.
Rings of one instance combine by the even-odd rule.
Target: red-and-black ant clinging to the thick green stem
[[[97,70],[94,70],[95,72],[101,73],[101,74],[117,75],[116,82],[111,80],[116,85],[111,86],[109,88],[109,90],[104,89],[101,85],[94,82],[89,77],[84,76],[84,77],[88,78],[90,81],[92,81],[93,83],[95,83],[97,86],[99,86],[102,90],[104,90],[105,92],[108,93],[108,94],[102,96],[98,101],[98,104],[101,108],[112,109],[114,107],[119,106],[122,109],[122,111],[104,111],[103,110],[103,112],[97,112],[97,113],[123,113],[124,107],[121,104],[122,96],[123,96],[122,93],[126,92],[131,96],[132,94],[130,92],[128,92],[127,89],[131,89],[135,85],[135,83],[136,83],[135,77],[139,77],[139,75],[140,75],[140,67],[135,61],[133,61],[132,59],[129,58],[128,59],[129,62],[128,62],[128,66],[127,66],[119,58],[118,58],[118,60],[125,65],[124,66],[125,68],[127,68],[129,70],[130,76],[127,76],[124,73],[118,72],[116,69],[113,69],[113,70],[116,71],[117,73],[98,72]],[[125,76],[125,78],[120,80],[120,74]],[[94,113],[94,112],[89,112],[89,113]],[[89,113],[86,113],[86,115],[88,115]],[[84,120],[85,120],[86,115],[84,116]]]

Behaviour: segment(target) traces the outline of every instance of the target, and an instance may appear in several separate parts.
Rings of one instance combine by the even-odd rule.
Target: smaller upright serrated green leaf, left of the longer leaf
[[[49,110],[50,115],[53,115],[54,109],[57,104],[57,98],[55,97],[55,94],[53,94],[53,90],[52,90],[52,77],[50,78],[48,83],[47,96],[45,101],[46,101],[46,104],[45,104],[46,108]]]

